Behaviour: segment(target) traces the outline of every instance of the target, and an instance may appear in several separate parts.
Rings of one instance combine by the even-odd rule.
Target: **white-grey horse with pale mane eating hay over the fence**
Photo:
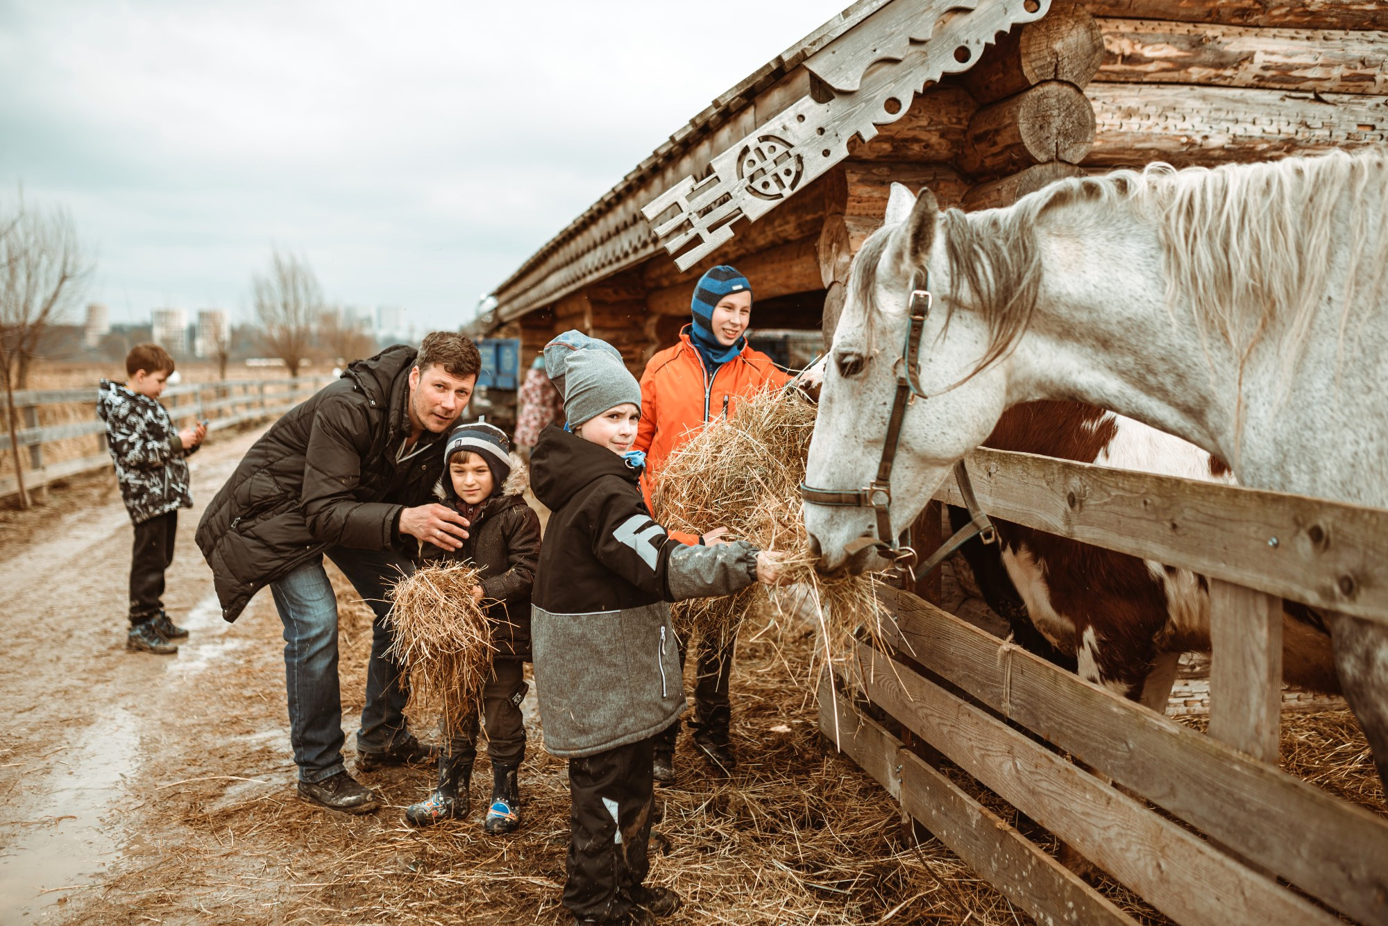
[[[1155,165],[970,215],[894,187],[884,227],[854,261],[806,484],[856,489],[877,470],[924,272],[930,398],[901,426],[892,531],[1005,409],[1034,399],[1184,437],[1246,487],[1388,509],[1388,151]],[[874,534],[872,509],[806,503],[805,525],[820,570],[874,566],[855,543]],[[1388,782],[1388,627],[1326,617]]]

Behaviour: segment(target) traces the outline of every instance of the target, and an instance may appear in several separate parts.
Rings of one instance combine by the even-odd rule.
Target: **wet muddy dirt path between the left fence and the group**
[[[258,431],[192,460],[194,498],[212,496]],[[89,493],[92,495],[92,493]],[[221,620],[193,542],[201,505],[179,513],[165,606],[193,631],[175,657],[125,650],[130,527],[119,493],[79,510],[29,513],[26,543],[0,549],[0,922],[47,920],[112,865],[155,843],[129,825],[135,785],[178,764],[171,736],[210,692],[207,667],[247,645]]]

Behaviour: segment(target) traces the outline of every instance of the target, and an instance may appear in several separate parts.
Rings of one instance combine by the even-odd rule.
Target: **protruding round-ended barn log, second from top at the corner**
[[[1033,164],[1078,164],[1094,144],[1094,107],[1073,83],[1047,80],[973,114],[959,166],[999,177]]]

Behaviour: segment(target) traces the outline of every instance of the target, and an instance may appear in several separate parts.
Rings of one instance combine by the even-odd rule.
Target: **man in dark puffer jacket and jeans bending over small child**
[[[275,595],[298,792],[332,810],[365,814],[378,803],[343,764],[337,602],[323,556],[376,613],[358,767],[432,758],[405,728],[403,667],[386,656],[387,588],[412,568],[393,549],[403,535],[447,550],[468,536],[461,514],[421,503],[480,367],[472,341],[451,331],[429,334],[418,353],[396,345],[353,362],[255,442],[198,524],[223,618],[235,621],[265,585]]]

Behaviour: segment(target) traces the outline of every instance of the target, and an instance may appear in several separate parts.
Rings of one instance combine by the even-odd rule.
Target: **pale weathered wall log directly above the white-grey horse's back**
[[[1388,141],[1374,97],[1245,87],[1091,83],[1094,147],[1085,166],[1262,161]]]

